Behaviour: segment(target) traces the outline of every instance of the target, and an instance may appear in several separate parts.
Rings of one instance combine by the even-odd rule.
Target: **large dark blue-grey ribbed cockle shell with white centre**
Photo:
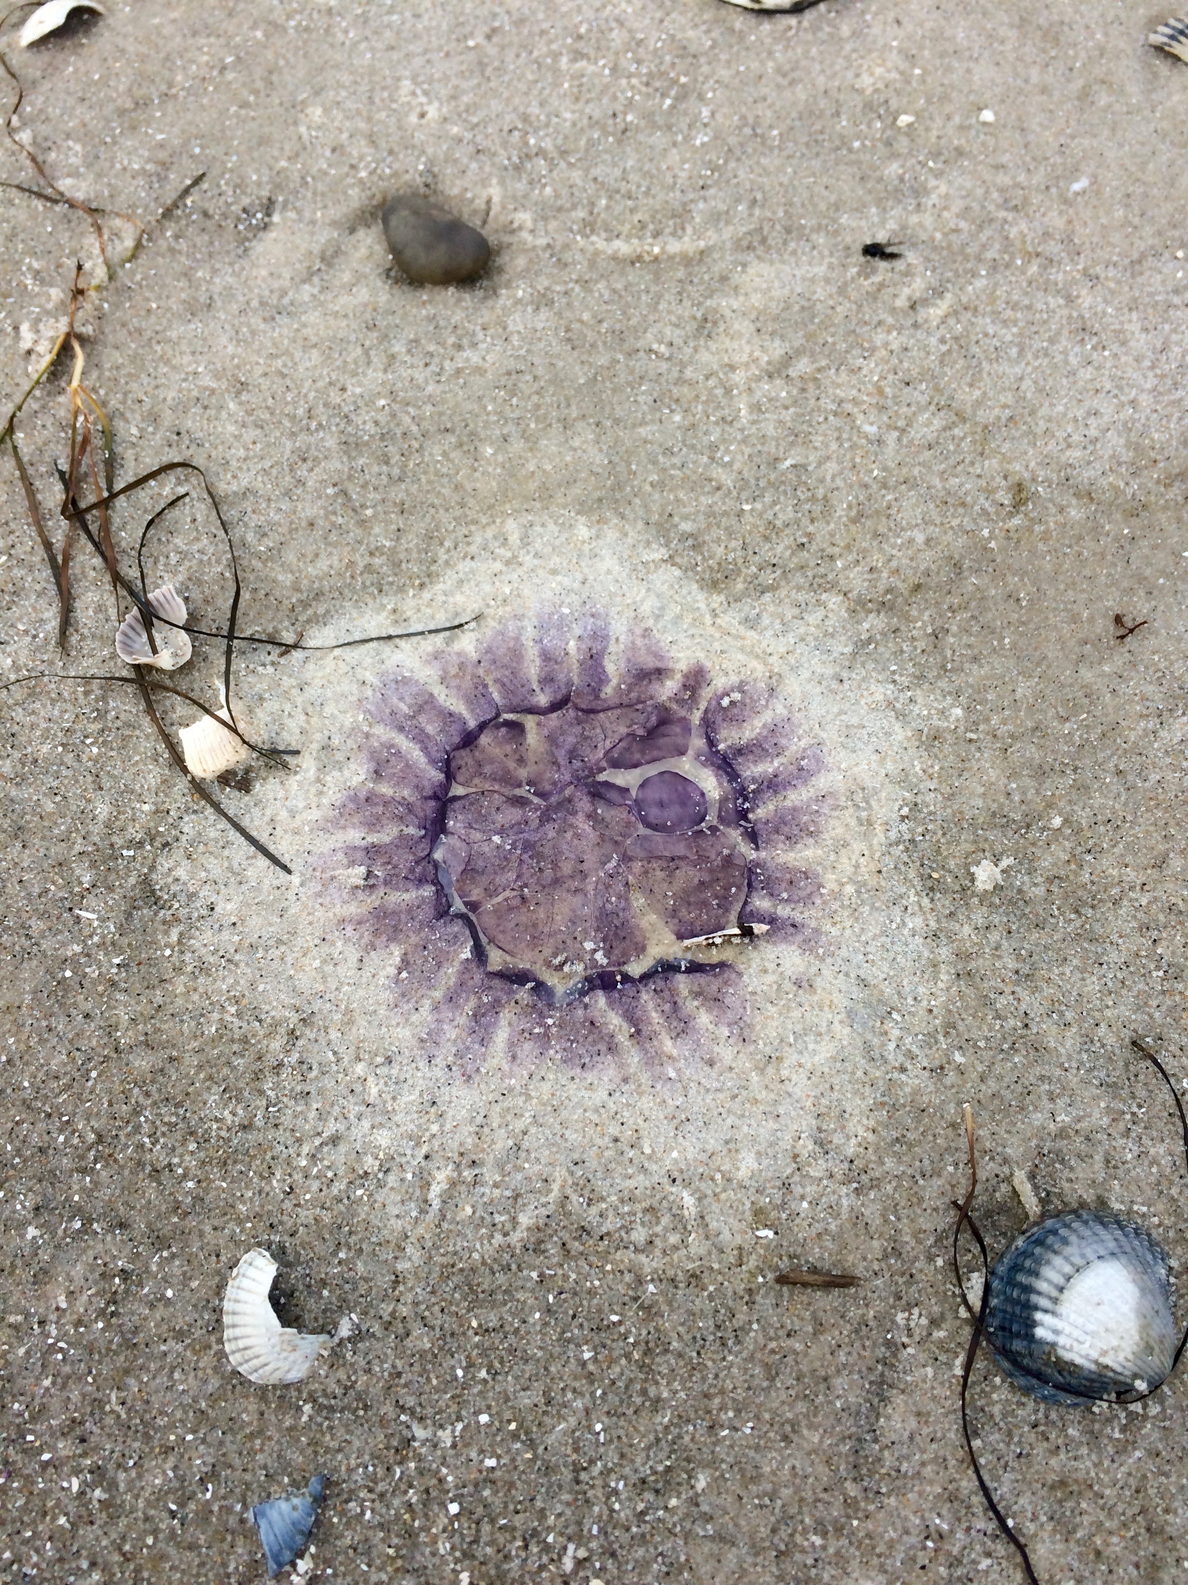
[[[1158,1387],[1178,1341],[1163,1249],[1098,1211],[1017,1238],[990,1273],[985,1323],[1006,1374],[1047,1403]]]

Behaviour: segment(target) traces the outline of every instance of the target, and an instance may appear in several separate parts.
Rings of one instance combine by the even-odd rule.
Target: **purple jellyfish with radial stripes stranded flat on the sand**
[[[816,941],[797,850],[827,812],[821,750],[770,688],[678,667],[642,629],[615,642],[602,612],[428,666],[379,678],[322,864],[402,1013],[466,1071],[501,1045],[711,1057],[746,1025],[744,954]]]

